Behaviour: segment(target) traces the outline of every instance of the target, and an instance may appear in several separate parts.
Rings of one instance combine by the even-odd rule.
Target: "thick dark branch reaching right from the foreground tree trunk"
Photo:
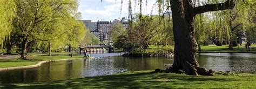
[[[226,9],[233,9],[234,8],[234,1],[227,0],[225,3],[218,3],[218,4],[206,4],[203,6],[198,6],[194,8],[194,15],[208,12],[208,11],[219,11],[219,10],[226,10]]]

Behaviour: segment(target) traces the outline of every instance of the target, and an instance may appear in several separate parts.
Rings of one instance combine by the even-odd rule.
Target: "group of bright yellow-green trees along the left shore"
[[[92,35],[79,22],[77,0],[4,0],[0,1],[0,44],[7,53],[11,48],[21,48],[21,59],[31,50],[48,52],[70,49],[90,43]],[[72,55],[71,55],[72,56]]]

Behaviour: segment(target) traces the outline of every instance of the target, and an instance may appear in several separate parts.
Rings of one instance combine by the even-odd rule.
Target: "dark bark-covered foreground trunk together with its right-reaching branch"
[[[231,9],[230,1],[223,5],[204,5],[194,8],[192,1],[170,0],[173,19],[174,35],[174,63],[169,68],[170,72],[184,71],[188,75],[212,75],[203,67],[199,67],[196,60],[197,42],[194,38],[194,17],[199,13]],[[233,2],[233,1],[232,1]],[[233,6],[233,4],[232,4]]]

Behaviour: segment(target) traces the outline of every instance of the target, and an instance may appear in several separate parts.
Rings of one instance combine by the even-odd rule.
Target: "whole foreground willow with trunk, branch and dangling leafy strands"
[[[132,3],[131,0],[128,2],[129,17],[132,17]],[[140,1],[139,3],[142,2],[143,1]],[[197,41],[195,39],[194,32],[194,19],[201,13],[233,9],[235,6],[235,1],[157,0],[156,2],[158,3],[159,13],[164,12],[164,9],[161,7],[163,7],[162,5],[165,5],[166,3],[169,4],[167,7],[170,6],[172,10],[172,25],[175,42],[174,63],[172,67],[167,69],[167,71],[185,72],[188,75],[212,75],[212,71],[208,71],[203,67],[199,67],[199,64],[196,60]],[[206,4],[196,4],[197,2],[206,2]],[[140,9],[140,14],[142,14],[141,10],[142,9]],[[216,20],[213,21],[215,25],[219,25],[219,27],[215,27],[214,29],[218,30],[219,32],[219,34],[215,33],[215,35],[219,35],[220,37],[223,34],[223,32],[220,30],[223,28],[223,23],[221,22],[222,20],[223,19],[216,18]],[[131,21],[133,21],[132,18]],[[245,26],[243,27],[245,28]]]

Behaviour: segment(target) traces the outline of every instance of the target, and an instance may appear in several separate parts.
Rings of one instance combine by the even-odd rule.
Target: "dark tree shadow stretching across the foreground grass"
[[[159,81],[159,79],[166,79],[168,81]],[[178,80],[178,81],[175,81]],[[110,76],[88,77],[64,81],[51,81],[46,83],[31,83],[33,86],[17,86],[15,84],[0,84],[0,88],[68,88],[68,87],[161,87],[170,88],[168,86],[161,86],[161,83],[167,83],[169,86],[174,85],[188,85],[189,81],[235,81],[231,78],[208,78],[196,76],[184,76],[178,74],[154,74],[153,72],[142,72],[135,74],[114,74]],[[204,83],[192,83],[191,85],[202,85]],[[26,84],[24,84],[26,85]],[[2,86],[2,87],[1,87]]]

